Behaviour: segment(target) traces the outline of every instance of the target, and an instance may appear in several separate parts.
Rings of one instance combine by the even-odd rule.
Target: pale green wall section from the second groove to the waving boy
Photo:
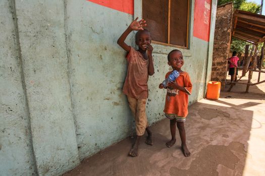
[[[127,62],[116,43],[132,16],[74,0],[68,1],[66,12],[77,143],[84,158],[132,131],[133,119],[122,93]],[[133,43],[132,35],[127,42]]]

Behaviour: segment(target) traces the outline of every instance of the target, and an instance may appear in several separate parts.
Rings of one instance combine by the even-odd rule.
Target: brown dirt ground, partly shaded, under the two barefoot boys
[[[251,82],[257,75],[253,73]],[[265,83],[250,86],[248,94],[244,84],[226,90],[219,100],[189,106],[185,129],[190,157],[183,156],[178,133],[176,144],[166,147],[171,135],[164,119],[151,126],[153,146],[142,139],[139,156],[128,156],[134,140],[128,137],[64,175],[265,175]]]

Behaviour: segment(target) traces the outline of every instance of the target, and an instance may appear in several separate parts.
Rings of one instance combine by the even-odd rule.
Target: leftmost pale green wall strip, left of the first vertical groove
[[[14,4],[0,1],[0,175],[35,173]]]

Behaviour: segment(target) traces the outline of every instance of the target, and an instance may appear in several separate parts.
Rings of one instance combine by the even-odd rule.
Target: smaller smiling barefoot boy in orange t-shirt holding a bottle
[[[182,52],[174,49],[168,54],[168,64],[172,66],[173,70],[179,72],[179,77],[173,82],[169,82],[167,87],[161,83],[160,89],[167,89],[165,116],[170,119],[171,140],[166,143],[167,147],[171,147],[176,143],[176,123],[181,139],[181,149],[184,156],[190,156],[190,152],[186,145],[186,132],[184,122],[188,114],[188,96],[191,95],[192,84],[190,76],[187,72],[182,71],[181,67],[184,64]],[[172,71],[166,74],[166,78]]]

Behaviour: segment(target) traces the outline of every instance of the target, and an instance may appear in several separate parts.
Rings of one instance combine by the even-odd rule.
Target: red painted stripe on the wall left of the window
[[[134,11],[134,0],[87,0],[89,2],[98,4],[100,6],[115,9],[120,12],[133,15]]]

